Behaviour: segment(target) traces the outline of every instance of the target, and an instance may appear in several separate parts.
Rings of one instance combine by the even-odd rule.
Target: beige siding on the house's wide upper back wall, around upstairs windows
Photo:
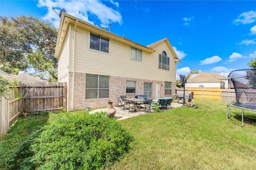
[[[70,71],[73,64],[73,30],[74,26],[71,29],[70,39]],[[90,31],[77,27],[75,37],[75,72],[158,81],[176,80],[174,57],[166,42],[154,48],[159,52],[142,51],[142,62],[138,62],[130,60],[130,46],[127,44],[110,38],[110,51],[104,53],[90,49]],[[158,54],[162,53],[162,50],[165,50],[170,57],[170,71],[158,69]]]

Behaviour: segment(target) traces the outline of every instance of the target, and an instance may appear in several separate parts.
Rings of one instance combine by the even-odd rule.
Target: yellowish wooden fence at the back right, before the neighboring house
[[[182,93],[183,90],[181,88],[176,89],[176,94]],[[236,93],[234,89],[217,89],[217,88],[205,88],[205,89],[198,89],[198,88],[189,88],[185,89],[186,93],[193,94],[194,99],[201,99],[201,100],[219,100],[219,101],[228,101],[228,91],[230,92],[230,102],[236,102]]]

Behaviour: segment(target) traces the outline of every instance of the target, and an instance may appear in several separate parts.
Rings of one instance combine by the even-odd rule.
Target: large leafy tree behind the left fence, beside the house
[[[48,21],[33,16],[0,16],[0,60],[3,65],[9,64],[4,71],[17,74],[12,70],[27,72],[34,68],[37,75],[47,72],[51,78],[57,78],[58,60],[54,58],[57,36],[58,30]],[[40,57],[31,60],[29,56]]]

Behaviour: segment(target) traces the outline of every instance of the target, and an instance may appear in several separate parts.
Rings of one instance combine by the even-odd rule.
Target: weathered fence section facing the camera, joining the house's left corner
[[[22,112],[66,110],[66,83],[21,82]]]

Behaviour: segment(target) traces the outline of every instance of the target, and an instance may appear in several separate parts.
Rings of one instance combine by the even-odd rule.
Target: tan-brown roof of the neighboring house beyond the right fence
[[[187,82],[188,83],[198,83],[198,82],[222,82],[222,80],[228,80],[228,77],[222,76],[216,73],[206,73],[202,72],[196,76],[190,75]]]

